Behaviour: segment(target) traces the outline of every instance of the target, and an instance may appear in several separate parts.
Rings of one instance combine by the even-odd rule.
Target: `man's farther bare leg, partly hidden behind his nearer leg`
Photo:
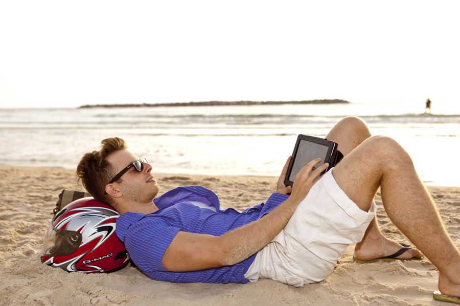
[[[326,138],[338,143],[338,149],[343,156],[347,156],[354,148],[364,140],[371,137],[369,127],[358,117],[349,116],[337,122]],[[355,246],[354,256],[360,260],[373,260],[388,256],[401,248],[399,243],[385,238],[380,232],[377,218],[374,217],[367,227],[364,238]],[[410,249],[397,258],[410,259],[421,257],[417,249]]]

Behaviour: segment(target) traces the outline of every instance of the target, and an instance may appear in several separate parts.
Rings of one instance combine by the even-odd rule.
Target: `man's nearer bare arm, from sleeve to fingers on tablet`
[[[163,266],[173,272],[230,266],[262,249],[283,230],[297,205],[319,180],[317,176],[329,166],[324,164],[309,175],[319,161],[313,160],[302,168],[295,177],[290,198],[263,218],[221,236],[179,232],[165,251]]]

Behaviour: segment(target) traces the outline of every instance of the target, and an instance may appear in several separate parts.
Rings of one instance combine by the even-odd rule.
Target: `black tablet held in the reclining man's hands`
[[[329,167],[320,175],[326,173],[330,168],[335,166],[337,160],[337,146],[336,142],[326,140],[324,138],[298,135],[297,142],[292,152],[292,158],[289,163],[284,184],[292,186],[294,184],[295,176],[297,173],[309,162],[316,158],[321,161],[314,165],[315,168],[320,167],[324,163],[329,163]],[[310,172],[311,173],[311,172]]]

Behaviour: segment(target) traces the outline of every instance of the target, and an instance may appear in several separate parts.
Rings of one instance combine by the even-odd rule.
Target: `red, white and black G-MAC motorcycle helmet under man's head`
[[[54,216],[43,241],[41,262],[67,272],[101,273],[129,263],[115,234],[120,215],[92,197],[73,201]]]

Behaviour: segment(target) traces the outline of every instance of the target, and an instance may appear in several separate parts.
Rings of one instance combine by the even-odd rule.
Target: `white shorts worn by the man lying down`
[[[333,168],[332,168],[333,169]],[[362,240],[375,216],[345,194],[329,170],[310,189],[283,231],[261,249],[244,277],[302,287],[321,282],[334,270],[348,245]]]

